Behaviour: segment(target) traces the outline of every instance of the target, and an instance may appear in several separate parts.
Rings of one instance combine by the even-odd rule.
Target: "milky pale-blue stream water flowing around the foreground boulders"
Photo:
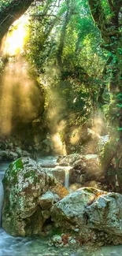
[[[54,165],[56,158],[39,159],[43,164]],[[0,163],[0,216],[2,215],[3,187],[2,178],[8,163]],[[68,186],[69,172],[65,179]],[[122,256],[122,246],[108,246],[100,249],[93,248],[91,251],[87,247],[72,249],[70,247],[57,248],[49,246],[49,238],[39,237],[21,238],[9,236],[3,228],[0,228],[0,256]]]

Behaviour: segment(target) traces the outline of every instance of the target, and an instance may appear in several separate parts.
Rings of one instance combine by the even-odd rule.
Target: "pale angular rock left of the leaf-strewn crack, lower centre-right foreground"
[[[68,231],[75,230],[76,225],[78,225],[83,238],[90,239],[92,232],[90,228],[87,228],[84,212],[87,203],[96,191],[93,188],[82,188],[67,195],[53,206],[51,210],[52,221],[57,227],[62,227]]]

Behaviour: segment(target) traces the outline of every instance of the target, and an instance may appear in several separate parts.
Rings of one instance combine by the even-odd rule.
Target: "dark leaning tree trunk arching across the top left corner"
[[[2,1],[0,6],[0,43],[13,22],[19,19],[34,0]]]

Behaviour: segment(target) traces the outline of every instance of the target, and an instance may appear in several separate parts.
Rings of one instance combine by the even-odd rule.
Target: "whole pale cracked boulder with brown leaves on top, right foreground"
[[[62,232],[75,232],[82,243],[122,243],[122,195],[84,187],[67,195],[51,210]]]

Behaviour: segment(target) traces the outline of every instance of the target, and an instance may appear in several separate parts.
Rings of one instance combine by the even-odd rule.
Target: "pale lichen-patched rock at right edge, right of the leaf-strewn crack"
[[[86,210],[90,228],[122,237],[122,195],[99,196]]]

